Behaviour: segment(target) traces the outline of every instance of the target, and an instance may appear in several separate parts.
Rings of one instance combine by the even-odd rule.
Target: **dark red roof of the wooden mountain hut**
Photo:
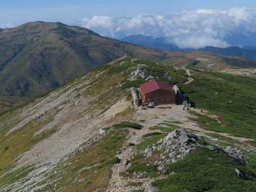
[[[141,88],[144,94],[153,92],[155,90],[168,90],[171,92],[175,92],[174,89],[167,82],[162,82],[160,80],[151,80],[149,82],[145,82],[141,85]]]

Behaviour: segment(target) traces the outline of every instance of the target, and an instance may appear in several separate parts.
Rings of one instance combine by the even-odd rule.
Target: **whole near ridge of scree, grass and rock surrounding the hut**
[[[120,58],[1,114],[1,191],[255,190],[255,78],[218,75]],[[149,78],[177,84],[200,108],[133,107],[129,87]],[[235,107],[226,94],[239,96]]]

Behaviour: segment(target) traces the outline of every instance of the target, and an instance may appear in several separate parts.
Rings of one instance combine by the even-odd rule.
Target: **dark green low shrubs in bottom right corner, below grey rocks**
[[[235,168],[245,175],[239,178]],[[166,165],[167,178],[152,184],[160,191],[255,191],[256,177],[245,166],[225,155],[206,148],[197,147],[195,153],[183,160]]]

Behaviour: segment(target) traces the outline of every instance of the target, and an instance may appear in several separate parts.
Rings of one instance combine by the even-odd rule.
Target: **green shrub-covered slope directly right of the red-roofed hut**
[[[218,115],[216,119],[194,113],[203,129],[256,139],[256,78],[193,71],[193,81],[179,84],[196,107]]]

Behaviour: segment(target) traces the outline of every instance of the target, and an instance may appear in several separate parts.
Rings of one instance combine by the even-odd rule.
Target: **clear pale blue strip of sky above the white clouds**
[[[18,25],[35,19],[58,21],[94,15],[163,14],[170,11],[256,6],[253,0],[0,0],[0,3],[1,25]]]

